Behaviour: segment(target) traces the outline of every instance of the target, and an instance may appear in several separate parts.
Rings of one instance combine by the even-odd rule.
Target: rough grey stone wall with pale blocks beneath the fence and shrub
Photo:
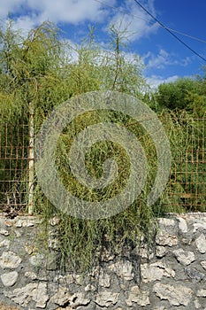
[[[55,237],[49,255],[38,246],[38,229],[34,217],[0,217],[0,309],[206,310],[203,214],[159,219],[150,251],[104,252],[87,275],[60,272]]]

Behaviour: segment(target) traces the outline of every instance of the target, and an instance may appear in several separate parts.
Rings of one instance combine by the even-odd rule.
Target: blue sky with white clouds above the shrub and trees
[[[206,58],[206,1],[205,0],[139,0],[139,2],[172,29],[187,45]],[[65,30],[72,43],[80,42],[88,32],[88,24],[95,27],[95,35],[102,44],[108,42],[108,27],[113,23],[127,25],[131,34],[128,56],[137,53],[145,65],[144,75],[153,87],[178,77],[202,74],[206,65],[191,50],[179,43],[134,0],[1,0],[0,19],[15,19],[14,27],[26,31],[50,20]],[[201,39],[201,42],[179,31]]]

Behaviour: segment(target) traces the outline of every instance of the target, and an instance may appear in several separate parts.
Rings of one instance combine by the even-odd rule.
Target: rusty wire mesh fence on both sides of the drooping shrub
[[[172,168],[162,203],[170,211],[205,212],[206,115],[191,119],[175,116],[172,121],[175,130],[165,122],[172,143]],[[28,122],[0,125],[0,212],[27,212],[31,199],[29,138]]]

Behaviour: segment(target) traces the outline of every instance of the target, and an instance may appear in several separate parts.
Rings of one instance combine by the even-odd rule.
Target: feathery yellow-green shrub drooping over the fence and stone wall
[[[4,124],[10,122],[16,128],[19,120],[29,125],[29,105],[34,106],[34,133],[36,134],[47,115],[69,97],[91,90],[116,89],[128,94],[141,96],[145,84],[141,76],[141,60],[133,62],[126,59],[122,50],[123,34],[115,27],[111,29],[110,50],[102,50],[90,33],[80,45],[70,46],[64,42],[57,27],[50,22],[33,29],[27,37],[12,30],[11,25],[1,32],[1,73],[0,73],[0,117],[4,136]],[[111,50],[112,47],[112,50]],[[74,57],[73,57],[74,55]],[[12,122],[11,122],[12,120]],[[91,192],[76,182],[68,170],[67,151],[73,136],[82,128],[100,120],[116,120],[130,126],[141,136],[134,120],[115,112],[105,114],[94,112],[81,115],[72,122],[57,143],[58,174],[65,187],[78,197],[88,200],[112,198],[125,185],[129,174],[129,161],[117,143],[96,143],[88,153],[87,167],[90,174],[102,174],[102,164],[112,157],[118,162],[119,174],[114,184],[106,190]],[[143,133],[143,135],[146,135]],[[19,143],[18,136],[16,143]],[[148,137],[149,140],[149,137]],[[147,141],[147,138],[143,139]],[[28,139],[22,136],[22,143]],[[150,140],[149,140],[150,143]],[[151,154],[151,152],[149,153]],[[27,155],[27,154],[26,154]],[[98,156],[97,156],[98,155]],[[153,159],[152,159],[153,160]],[[153,167],[155,167],[153,165]],[[8,178],[15,175],[8,175]],[[152,182],[151,182],[152,183]],[[149,186],[142,192],[139,202],[129,210],[110,219],[82,221],[60,213],[42,194],[38,183],[34,187],[34,212],[39,213],[47,233],[48,222],[53,216],[60,219],[59,248],[62,264],[83,270],[98,260],[98,252],[106,246],[113,252],[121,252],[122,245],[134,243],[142,234],[149,237],[152,225],[151,209],[146,205]],[[145,201],[145,203],[142,203]],[[48,236],[48,234],[45,234]],[[84,248],[84,251],[82,249]],[[113,249],[113,250],[112,250]]]

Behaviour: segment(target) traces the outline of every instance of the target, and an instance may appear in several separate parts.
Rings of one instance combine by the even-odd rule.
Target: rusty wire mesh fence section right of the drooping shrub
[[[182,135],[179,147],[173,150],[169,180],[169,202],[181,211],[206,210],[206,115],[180,119]]]

